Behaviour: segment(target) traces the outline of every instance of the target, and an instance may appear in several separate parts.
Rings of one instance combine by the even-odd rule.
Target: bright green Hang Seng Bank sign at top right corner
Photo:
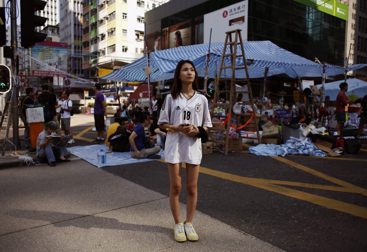
[[[298,3],[305,4],[316,10],[325,12],[335,17],[348,21],[348,6],[336,0],[294,0]]]

